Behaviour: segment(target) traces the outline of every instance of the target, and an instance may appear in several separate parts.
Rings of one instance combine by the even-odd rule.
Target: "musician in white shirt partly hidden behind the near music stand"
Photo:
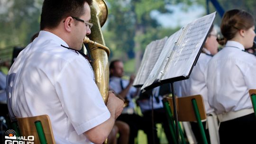
[[[189,79],[175,82],[175,89],[178,88],[180,93],[177,93],[179,97],[192,96],[201,94],[204,100],[205,110],[207,115],[210,115],[214,111],[208,103],[207,87],[206,87],[206,69],[208,62],[214,54],[218,52],[217,31],[211,27],[210,33],[205,41],[201,54],[198,58],[196,65],[194,66]],[[176,91],[176,90],[175,90]],[[206,133],[206,138],[210,144],[209,130],[206,128],[206,121],[202,122]],[[191,122],[192,131],[199,144],[202,144],[202,138],[200,135],[200,129],[196,122]],[[215,140],[216,141],[216,140]]]

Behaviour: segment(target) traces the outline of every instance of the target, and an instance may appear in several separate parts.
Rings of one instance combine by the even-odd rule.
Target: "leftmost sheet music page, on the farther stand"
[[[133,82],[134,86],[142,86],[151,70],[153,69],[159,55],[162,52],[162,49],[167,40],[167,36],[160,40],[155,40],[146,46],[146,50],[144,52],[139,70],[137,72],[137,76]]]

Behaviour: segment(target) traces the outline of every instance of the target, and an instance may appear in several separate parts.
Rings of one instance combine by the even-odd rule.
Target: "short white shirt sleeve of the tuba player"
[[[55,88],[78,135],[110,118],[110,112],[93,81],[91,67],[84,58],[78,57],[65,63]]]

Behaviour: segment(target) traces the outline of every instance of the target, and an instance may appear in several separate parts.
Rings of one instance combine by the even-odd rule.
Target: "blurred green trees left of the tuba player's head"
[[[43,0],[0,0],[0,47],[25,46],[39,31]]]

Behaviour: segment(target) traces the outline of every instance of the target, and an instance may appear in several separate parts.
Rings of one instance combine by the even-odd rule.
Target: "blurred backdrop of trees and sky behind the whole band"
[[[106,0],[109,15],[102,33],[110,60],[121,59],[126,75],[136,74],[146,45],[171,36],[181,27],[207,14],[209,0]],[[216,1],[216,0],[211,0]],[[226,11],[245,9],[256,16],[256,0],[218,0]],[[14,46],[24,47],[39,31],[43,0],[0,0],[0,63],[10,61]],[[209,12],[216,9],[209,2]],[[221,18],[216,17],[219,27]]]

